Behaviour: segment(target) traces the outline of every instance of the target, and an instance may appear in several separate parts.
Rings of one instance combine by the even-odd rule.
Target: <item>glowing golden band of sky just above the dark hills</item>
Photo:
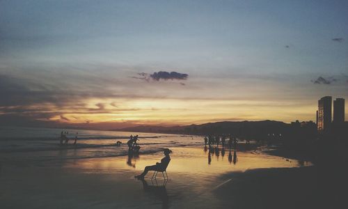
[[[129,122],[188,125],[216,121],[290,122],[315,120],[316,104],[250,100],[119,99],[86,100],[84,108],[61,109],[49,118],[64,123]],[[54,109],[52,109],[54,111]]]

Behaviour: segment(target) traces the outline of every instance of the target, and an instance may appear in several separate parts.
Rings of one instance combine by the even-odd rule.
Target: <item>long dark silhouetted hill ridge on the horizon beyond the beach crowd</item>
[[[118,129],[117,131],[169,134],[236,134],[240,137],[255,138],[269,133],[283,133],[287,131],[288,127],[290,127],[290,124],[280,121],[222,121],[173,127],[139,125]]]

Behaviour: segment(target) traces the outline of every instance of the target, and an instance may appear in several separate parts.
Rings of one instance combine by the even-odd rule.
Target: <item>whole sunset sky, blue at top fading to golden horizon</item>
[[[315,121],[325,95],[348,1],[0,1],[0,125]]]

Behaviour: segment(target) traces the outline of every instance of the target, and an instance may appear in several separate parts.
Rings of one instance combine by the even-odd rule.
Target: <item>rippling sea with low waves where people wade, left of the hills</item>
[[[67,145],[60,144],[61,132],[68,132]],[[114,132],[98,130],[61,130],[35,127],[0,127],[1,161],[68,160],[93,157],[125,156],[129,136],[139,134],[140,153],[157,153],[163,148],[198,146],[201,137],[177,135]],[[77,136],[77,144],[74,138]],[[121,141],[121,146],[116,146]],[[29,153],[29,154],[28,154]]]

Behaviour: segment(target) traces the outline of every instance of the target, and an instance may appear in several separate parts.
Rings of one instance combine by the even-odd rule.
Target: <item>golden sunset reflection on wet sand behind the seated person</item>
[[[297,160],[291,160],[291,162],[286,161],[282,157],[267,155],[258,150],[247,152],[238,151],[237,153],[237,151],[234,152],[231,149],[228,150],[228,157],[220,157],[220,159],[217,160],[214,148],[209,149],[209,147],[207,147],[207,153],[205,153],[203,148],[173,148],[171,164],[167,169],[168,176],[171,175],[170,173],[186,173],[191,176],[204,178],[205,176],[216,176],[216,171],[219,171],[219,173],[226,173],[230,171],[246,171],[246,169],[301,166]],[[139,153],[139,157],[126,155],[125,157],[89,158],[79,160],[79,163],[76,164],[71,163],[72,161],[70,160],[65,161],[63,167],[81,169],[82,172],[87,173],[124,174],[125,172],[129,172],[128,175],[134,177],[134,175],[143,171],[143,169],[149,164],[155,164],[158,162],[158,159],[160,159],[162,155],[162,153],[146,155]],[[235,162],[235,164],[232,164],[232,162]],[[134,167],[133,165],[135,164],[136,166]],[[308,162],[303,164],[305,166],[310,165]],[[233,167],[230,167],[230,165],[233,165]]]

